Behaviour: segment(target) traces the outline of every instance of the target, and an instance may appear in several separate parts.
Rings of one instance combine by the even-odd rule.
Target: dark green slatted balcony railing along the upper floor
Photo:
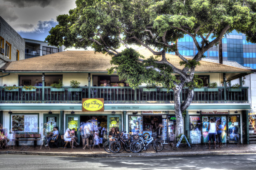
[[[165,88],[140,87],[133,90],[130,87],[37,87],[26,91],[23,87],[0,91],[0,102],[45,102],[45,103],[81,103],[82,98],[104,98],[105,103],[174,103],[173,91]],[[226,89],[226,90],[225,90]],[[183,88],[180,100],[186,100],[188,88]],[[90,93],[89,93],[90,92]],[[241,88],[195,88],[192,102],[195,103],[246,103],[248,102],[248,87]]]

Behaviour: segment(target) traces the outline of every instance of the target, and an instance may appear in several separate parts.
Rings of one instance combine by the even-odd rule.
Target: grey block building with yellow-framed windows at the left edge
[[[25,59],[25,40],[0,17],[0,65]]]

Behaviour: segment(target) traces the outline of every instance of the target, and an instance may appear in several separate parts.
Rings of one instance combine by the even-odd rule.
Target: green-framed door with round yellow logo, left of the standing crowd
[[[76,137],[78,138],[78,141],[80,141],[80,115],[67,115],[66,116],[66,129],[70,128],[70,130],[72,129],[76,129]],[[66,129],[64,129],[64,133],[66,131]]]

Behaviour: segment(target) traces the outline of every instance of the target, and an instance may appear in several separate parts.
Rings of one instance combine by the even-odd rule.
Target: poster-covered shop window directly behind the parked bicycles
[[[129,116],[129,133],[143,135],[141,116]]]

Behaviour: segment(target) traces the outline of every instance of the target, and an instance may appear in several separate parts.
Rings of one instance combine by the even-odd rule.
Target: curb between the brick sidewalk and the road
[[[256,150],[233,151],[200,151],[200,152],[159,152],[159,153],[55,153],[55,152],[26,152],[26,151],[0,151],[0,154],[41,155],[41,156],[75,156],[75,157],[150,157],[150,156],[189,156],[189,155],[217,155],[256,153]]]

